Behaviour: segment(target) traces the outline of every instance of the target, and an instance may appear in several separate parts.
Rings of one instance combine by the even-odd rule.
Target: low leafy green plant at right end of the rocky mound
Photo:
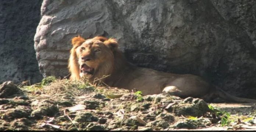
[[[208,105],[209,109],[216,115],[216,117],[220,117],[220,124],[221,126],[225,126],[230,124],[230,113],[225,112],[225,111],[221,111],[220,109],[214,108],[211,105]]]

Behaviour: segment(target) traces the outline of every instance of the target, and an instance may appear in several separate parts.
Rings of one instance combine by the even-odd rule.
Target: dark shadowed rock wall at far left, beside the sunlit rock
[[[42,0],[0,1],[0,83],[42,79],[33,48]]]

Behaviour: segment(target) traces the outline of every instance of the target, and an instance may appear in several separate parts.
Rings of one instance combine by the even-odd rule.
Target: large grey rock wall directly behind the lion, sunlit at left
[[[256,98],[254,0],[44,0],[35,41],[43,76],[68,75],[71,38],[117,38],[132,63],[203,76]]]

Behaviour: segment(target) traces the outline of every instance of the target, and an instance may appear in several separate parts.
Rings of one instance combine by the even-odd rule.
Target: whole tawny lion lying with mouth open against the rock
[[[228,102],[256,102],[235,97],[191,74],[173,74],[137,67],[129,63],[114,38],[96,36],[72,38],[68,68],[71,80],[86,78],[106,86],[142,91],[143,95],[168,93],[181,98],[202,98],[207,102],[220,97]]]

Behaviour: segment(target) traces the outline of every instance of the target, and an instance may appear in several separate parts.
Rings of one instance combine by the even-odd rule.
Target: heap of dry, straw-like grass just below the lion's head
[[[86,79],[71,81],[68,79],[56,79],[54,76],[44,78],[41,83],[33,84],[31,86],[22,86],[22,89],[35,93],[40,91],[48,95],[68,94],[72,96],[79,96],[81,94],[88,94],[95,91],[101,94],[128,94],[129,90],[108,87],[100,84],[91,84]]]

